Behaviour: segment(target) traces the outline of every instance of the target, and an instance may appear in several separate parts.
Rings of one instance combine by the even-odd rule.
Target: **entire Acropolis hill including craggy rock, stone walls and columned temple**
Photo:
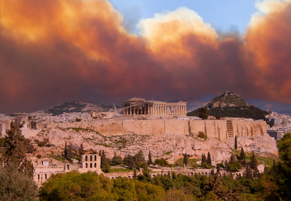
[[[123,115],[114,116],[118,111]],[[103,149],[111,158],[114,152],[124,157],[142,150],[144,155],[151,151],[154,159],[164,158],[174,163],[182,153],[200,158],[202,153],[210,151],[214,161],[221,161],[230,157],[235,136],[246,151],[278,153],[275,141],[267,134],[265,121],[226,117],[223,120],[193,120],[185,116],[185,111],[186,102],[146,101],[135,97],[123,102],[123,108],[111,112],[59,116],[19,114],[12,121],[24,122],[22,135],[32,141],[46,139],[60,149],[65,141],[74,149],[83,143],[85,150]],[[80,122],[76,122],[76,118]],[[2,121],[6,130],[9,121]],[[207,140],[198,137],[199,132],[205,133]],[[45,156],[56,150],[47,147],[39,151]],[[165,154],[167,152],[169,154]]]

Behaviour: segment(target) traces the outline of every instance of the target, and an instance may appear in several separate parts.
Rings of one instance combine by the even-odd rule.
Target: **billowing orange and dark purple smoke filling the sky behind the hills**
[[[1,0],[0,113],[224,90],[291,104],[291,1],[254,6],[240,34],[187,7],[139,20],[135,34],[106,0]]]

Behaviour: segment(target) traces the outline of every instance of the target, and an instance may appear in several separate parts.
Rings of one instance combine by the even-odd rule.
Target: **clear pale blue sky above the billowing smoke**
[[[209,22],[216,30],[246,31],[251,15],[256,11],[256,0],[110,0],[124,17],[129,32],[137,33],[136,23],[142,18],[152,18],[155,13],[174,11],[186,6]]]

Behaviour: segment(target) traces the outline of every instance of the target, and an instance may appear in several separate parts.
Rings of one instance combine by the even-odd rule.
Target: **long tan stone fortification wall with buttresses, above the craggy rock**
[[[267,133],[267,124],[264,121],[232,121],[233,134],[255,137]],[[203,131],[208,138],[224,140],[229,138],[226,120],[184,120],[184,119],[152,119],[152,120],[124,120],[124,121],[96,121],[76,123],[55,123],[50,127],[86,128],[98,131],[102,135],[124,135],[136,133],[139,135],[162,135],[163,133],[177,133],[198,136]]]

